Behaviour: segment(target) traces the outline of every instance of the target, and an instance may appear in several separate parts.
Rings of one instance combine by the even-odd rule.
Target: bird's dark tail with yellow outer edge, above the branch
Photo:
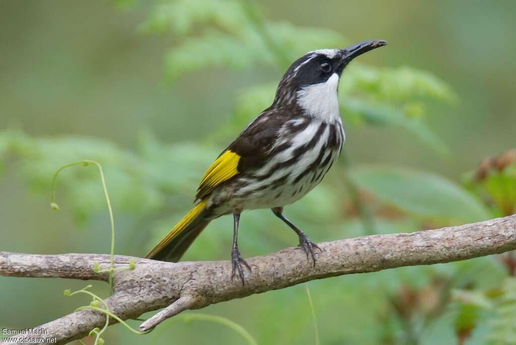
[[[206,215],[207,198],[201,200],[176,224],[146,258],[160,261],[178,262],[192,242],[199,236],[211,220]]]

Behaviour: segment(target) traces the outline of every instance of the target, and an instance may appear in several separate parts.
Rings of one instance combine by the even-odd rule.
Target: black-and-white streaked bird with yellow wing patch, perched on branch
[[[364,41],[344,49],[304,54],[281,78],[272,104],[215,159],[201,178],[195,205],[146,258],[178,262],[210,221],[233,215],[231,279],[251,267],[238,249],[240,213],[271,209],[299,237],[299,248],[315,266],[320,248],[283,215],[317,186],[337,160],[345,134],[337,88],[343,70],[359,55],[385,45]]]

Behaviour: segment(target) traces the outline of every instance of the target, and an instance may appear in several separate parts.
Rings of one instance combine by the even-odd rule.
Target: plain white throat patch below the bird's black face
[[[325,83],[309,85],[297,92],[297,103],[306,116],[326,123],[340,121],[337,99],[338,75],[333,73]]]

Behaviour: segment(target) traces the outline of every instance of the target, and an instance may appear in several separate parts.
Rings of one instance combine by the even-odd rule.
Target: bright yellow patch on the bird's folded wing
[[[222,182],[238,174],[240,156],[231,150],[224,151],[204,173],[199,184],[197,199],[203,199]]]

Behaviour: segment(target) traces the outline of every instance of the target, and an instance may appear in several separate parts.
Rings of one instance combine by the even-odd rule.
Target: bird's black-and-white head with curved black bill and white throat
[[[274,105],[299,105],[311,117],[334,117],[337,112],[337,86],[342,71],[352,59],[387,44],[364,41],[344,49],[309,52],[288,68],[278,85]]]

